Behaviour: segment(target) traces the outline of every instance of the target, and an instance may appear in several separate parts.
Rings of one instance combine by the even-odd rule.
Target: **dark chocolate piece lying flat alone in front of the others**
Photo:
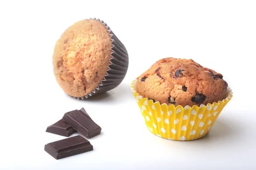
[[[62,159],[93,150],[93,145],[82,136],[73,136],[44,146],[44,150],[55,159]]]

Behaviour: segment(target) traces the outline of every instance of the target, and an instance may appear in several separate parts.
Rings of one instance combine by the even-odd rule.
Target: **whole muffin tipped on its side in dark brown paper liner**
[[[128,69],[125,46],[96,19],[81,20],[67,28],[55,44],[52,61],[60,87],[79,99],[115,88]]]

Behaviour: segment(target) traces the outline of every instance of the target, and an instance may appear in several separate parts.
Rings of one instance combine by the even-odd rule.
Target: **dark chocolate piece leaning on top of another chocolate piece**
[[[101,132],[101,127],[82,111],[74,110],[67,112],[62,119],[81,133],[81,135],[88,138],[99,135]]]

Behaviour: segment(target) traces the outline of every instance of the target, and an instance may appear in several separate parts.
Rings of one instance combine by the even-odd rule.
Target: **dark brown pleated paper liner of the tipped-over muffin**
[[[112,53],[111,59],[109,60],[111,63],[108,65],[108,70],[106,71],[106,75],[104,79],[97,85],[96,88],[93,89],[90,93],[82,97],[74,97],[76,99],[86,99],[95,94],[99,94],[105,91],[109,91],[113,88],[116,88],[122,80],[125,78],[126,72],[128,70],[128,52],[122,42],[116,37],[116,35],[111,31],[109,26],[104,23],[104,21],[90,18],[89,20],[96,20],[107,29],[111,38],[112,45]]]

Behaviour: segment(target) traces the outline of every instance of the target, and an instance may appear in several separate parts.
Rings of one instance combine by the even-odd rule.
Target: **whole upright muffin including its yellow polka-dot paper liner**
[[[154,63],[132,82],[131,91],[148,130],[178,141],[205,136],[233,96],[222,74],[172,57]]]

